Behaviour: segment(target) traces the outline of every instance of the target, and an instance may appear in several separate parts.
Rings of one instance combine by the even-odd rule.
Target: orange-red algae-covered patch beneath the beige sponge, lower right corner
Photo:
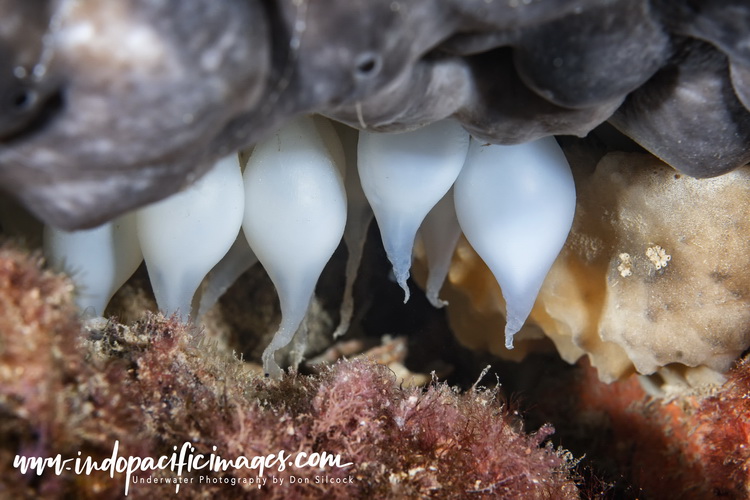
[[[635,377],[604,384],[588,363],[578,368],[532,397],[562,444],[585,452],[618,491],[647,499],[750,498],[747,358],[714,393],[667,401],[648,396]]]

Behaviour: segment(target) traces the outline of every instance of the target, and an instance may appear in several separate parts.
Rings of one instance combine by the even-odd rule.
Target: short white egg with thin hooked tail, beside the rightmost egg
[[[360,132],[358,168],[396,281],[409,300],[414,238],[427,213],[453,185],[469,134],[451,120],[403,133]]]

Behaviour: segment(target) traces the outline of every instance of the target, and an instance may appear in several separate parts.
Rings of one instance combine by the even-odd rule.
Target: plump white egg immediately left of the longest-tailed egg
[[[237,238],[244,196],[232,154],[184,191],[136,212],[151,286],[165,314],[187,319],[196,289]]]

